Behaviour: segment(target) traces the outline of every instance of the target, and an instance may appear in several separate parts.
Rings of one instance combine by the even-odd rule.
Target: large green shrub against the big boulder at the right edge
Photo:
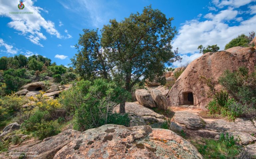
[[[256,69],[251,74],[248,69],[240,67],[238,71],[224,71],[219,83],[238,102],[256,105]]]

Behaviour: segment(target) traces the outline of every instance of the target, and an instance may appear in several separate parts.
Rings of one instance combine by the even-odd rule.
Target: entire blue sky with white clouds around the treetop
[[[123,20],[130,13],[152,5],[174,17],[178,35],[173,46],[183,57],[179,66],[201,56],[197,46],[217,44],[223,50],[241,33],[256,31],[256,0],[0,0],[0,57],[40,54],[58,65],[67,65],[83,28],[101,29],[110,19]]]

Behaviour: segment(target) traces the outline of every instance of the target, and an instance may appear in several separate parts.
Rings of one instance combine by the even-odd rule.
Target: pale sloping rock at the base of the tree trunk
[[[114,108],[114,111],[119,113],[119,105]],[[145,120],[145,122],[151,122],[152,120],[158,121],[158,119],[164,118],[163,115],[157,114],[153,110],[143,107],[140,104],[132,103],[132,102],[126,102],[125,103],[125,112],[126,113],[132,113],[137,116],[140,116]],[[150,118],[149,118],[150,117]],[[150,120],[150,121],[148,121]],[[162,121],[160,120],[160,121]]]

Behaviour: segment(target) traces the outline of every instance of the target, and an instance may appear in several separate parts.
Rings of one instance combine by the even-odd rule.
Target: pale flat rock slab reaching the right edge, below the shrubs
[[[249,134],[256,134],[256,127],[250,120],[243,120],[238,118],[235,122],[228,122],[223,119],[218,119],[214,121],[206,121],[204,127],[206,130],[213,131],[232,131],[232,132],[247,132]]]

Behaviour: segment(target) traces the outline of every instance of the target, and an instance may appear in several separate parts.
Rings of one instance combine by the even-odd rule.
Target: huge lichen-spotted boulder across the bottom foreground
[[[27,157],[29,159],[203,158],[189,141],[170,130],[113,124],[85,132],[66,130],[39,143],[20,145],[8,151],[36,152],[34,157]],[[7,152],[0,154],[0,158],[5,155]]]

